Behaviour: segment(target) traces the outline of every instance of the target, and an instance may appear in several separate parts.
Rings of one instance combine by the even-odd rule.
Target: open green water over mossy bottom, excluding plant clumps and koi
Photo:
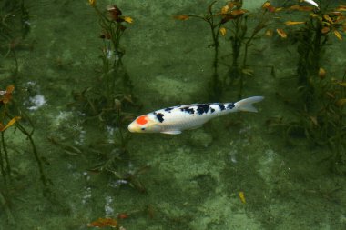
[[[172,15],[200,14],[209,2],[116,3],[134,19],[121,41],[133,94],[142,105],[131,112],[142,115],[171,105],[208,102],[213,58],[209,27],[200,20],[177,21]],[[254,3],[244,7],[255,12],[260,5]],[[25,135],[7,130],[13,176],[7,185],[0,180],[5,195],[5,203],[0,203],[1,230],[93,229],[87,224],[121,213],[128,214],[119,220],[127,230],[346,229],[346,178],[324,160],[330,148],[312,145],[302,136],[288,140],[281,133],[272,134],[266,125],[270,117],[294,115],[276,94],[290,98],[296,92],[291,76],[296,74],[298,54],[290,40],[262,33],[249,50],[254,76],[246,78],[243,97],[265,96],[256,105],[259,113],[219,117],[181,135],[130,135],[122,169],[135,172],[148,166],[137,175],[146,189],[143,193],[115,176],[90,170],[98,155],[114,154],[100,147],[114,140],[112,127],[97,119],[84,124],[86,115],[68,106],[74,102],[72,92],[97,87],[102,40],[95,11],[87,1],[40,0],[27,5],[31,31],[16,51],[18,74],[14,80],[9,70],[13,57],[4,58],[2,46],[0,85],[4,90],[15,84],[17,101],[36,127],[33,137],[52,194],[43,195]],[[342,75],[346,45],[336,37],[331,37],[331,44],[322,66]],[[229,41],[224,38],[220,55],[221,62],[230,62]],[[266,65],[274,65],[277,78]],[[226,73],[227,66],[219,65],[219,75]],[[221,102],[238,100],[238,86],[224,91]],[[35,95],[43,95],[46,104],[29,109]],[[80,152],[65,151],[66,145]],[[14,223],[8,222],[8,210]]]

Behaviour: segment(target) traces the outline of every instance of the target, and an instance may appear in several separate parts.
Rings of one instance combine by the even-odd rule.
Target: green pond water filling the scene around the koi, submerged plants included
[[[209,1],[1,2],[0,90],[15,85],[13,101],[2,101],[1,109],[21,116],[17,123],[28,132],[35,127],[29,136],[39,158],[18,126],[2,131],[0,230],[346,229],[345,145],[334,141],[346,136],[341,92],[346,45],[338,38],[345,23],[329,10],[339,7],[343,13],[346,6],[316,1],[321,13],[300,1],[263,8],[263,2],[244,0],[242,11],[218,1],[212,16],[219,31],[216,69],[209,23],[195,16],[208,16]],[[122,15],[107,5],[117,5]],[[310,8],[288,10],[292,5]],[[22,6],[28,18],[21,22]],[[304,35],[315,37],[313,32],[293,35],[315,20],[310,14],[321,16],[321,29],[328,27],[321,34],[328,34],[326,45],[315,56],[320,51],[309,55],[301,47]],[[102,16],[127,27],[116,53]],[[237,27],[239,17],[244,18]],[[220,18],[227,19],[218,25]],[[250,38],[260,20],[265,26]],[[300,23],[285,25],[288,21]],[[25,37],[23,25],[30,29]],[[232,65],[235,31],[244,26],[239,63]],[[306,46],[311,43],[306,39]],[[319,58],[319,75],[307,78],[319,82],[313,98],[301,93],[308,86],[297,80],[304,66],[315,63],[309,58]],[[219,83],[210,84],[216,72]],[[321,81],[340,89],[325,89]],[[340,123],[316,112],[315,101],[325,98],[316,88],[339,98],[328,111]],[[265,97],[255,105],[258,113],[223,115],[180,135],[127,131],[138,115],[161,108],[257,95]],[[325,117],[337,125],[325,125]],[[313,136],[318,132],[323,135]]]

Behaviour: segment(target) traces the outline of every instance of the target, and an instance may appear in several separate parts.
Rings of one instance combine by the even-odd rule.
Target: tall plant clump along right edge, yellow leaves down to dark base
[[[281,37],[292,36],[298,42],[297,90],[300,93],[290,100],[294,117],[276,117],[268,125],[281,127],[286,136],[300,135],[314,145],[328,146],[331,155],[327,158],[332,169],[341,175],[346,174],[346,83],[343,77],[327,75],[321,67],[323,54],[331,46],[330,35],[342,40],[346,6],[335,9],[315,9],[311,6],[291,5],[290,11],[302,12],[306,19],[287,21],[286,26],[295,26],[286,34],[283,29],[277,30]],[[327,46],[328,45],[328,46]]]

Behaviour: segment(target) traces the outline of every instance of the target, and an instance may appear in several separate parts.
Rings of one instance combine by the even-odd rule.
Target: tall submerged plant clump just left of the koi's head
[[[97,86],[90,86],[81,93],[74,93],[75,107],[86,114],[84,123],[97,120],[100,124],[112,130],[112,138],[107,143],[94,143],[86,149],[83,146],[61,145],[65,152],[72,154],[87,153],[97,163],[90,171],[110,175],[116,180],[124,181],[143,192],[144,186],[137,180],[137,173],[128,170],[127,123],[134,115],[127,112],[129,107],[137,107],[132,95],[132,83],[122,62],[125,50],[121,47],[121,38],[133,19],[122,15],[117,5],[107,6],[105,11],[98,8],[97,2],[90,0],[89,4],[97,13],[102,34],[101,75],[97,78]],[[107,134],[109,135],[109,134]],[[106,145],[105,145],[106,144]],[[81,149],[79,149],[81,148]],[[136,172],[136,170],[135,170]]]

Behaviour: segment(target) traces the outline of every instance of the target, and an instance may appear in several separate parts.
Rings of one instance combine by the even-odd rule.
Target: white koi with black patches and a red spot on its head
[[[140,115],[128,125],[132,133],[181,134],[183,130],[196,129],[210,119],[233,112],[257,112],[252,105],[263,100],[263,96],[253,96],[236,103],[209,103],[178,105]]]

